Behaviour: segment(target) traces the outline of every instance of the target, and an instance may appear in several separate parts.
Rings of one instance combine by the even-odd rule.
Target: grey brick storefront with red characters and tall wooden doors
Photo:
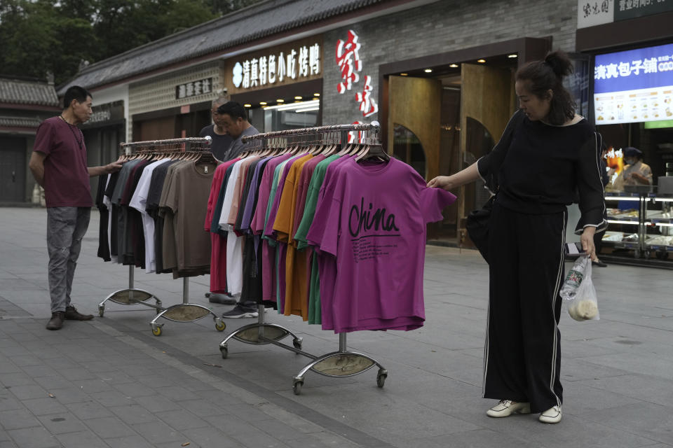
[[[378,120],[388,153],[423,178],[456,173],[501,137],[517,109],[519,66],[552,48],[573,51],[574,26],[539,19],[560,18],[573,3],[436,2],[325,33],[337,51],[326,56],[323,120]],[[428,239],[472,246],[464,221],[488,199],[482,187],[455,191]]]

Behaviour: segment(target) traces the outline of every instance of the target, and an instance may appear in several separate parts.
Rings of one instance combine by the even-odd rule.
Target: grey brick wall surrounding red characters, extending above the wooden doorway
[[[576,0],[440,0],[329,31],[324,36],[322,123],[369,123],[378,119],[377,114],[362,117],[355,92],[358,87],[362,89],[365,75],[372,76],[372,95],[380,101],[380,64],[521,37],[552,36],[553,48],[571,52],[575,50],[576,25]],[[334,59],[335,48],[340,38],[346,39],[348,29],[360,38],[362,71],[353,90],[339,94],[341,73]]]

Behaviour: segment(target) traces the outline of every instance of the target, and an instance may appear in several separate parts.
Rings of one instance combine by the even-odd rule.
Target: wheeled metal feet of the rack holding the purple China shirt
[[[259,305],[259,321],[245,325],[238,330],[231,332],[222,342],[219,343],[219,351],[222,353],[222,358],[226,359],[229,356],[229,340],[236,339],[245,344],[264,345],[273,344],[282,349],[293,351],[301,356],[311,359],[302,368],[297,375],[292,378],[292,391],[295,395],[301,393],[301,387],[304,386],[304,375],[309,370],[315,373],[332,378],[353,377],[354,375],[367,372],[374,366],[379,367],[379,372],[376,374],[376,386],[383,387],[386,384],[388,377],[388,370],[386,370],[379,361],[371,356],[357,351],[348,351],[346,348],[346,333],[339,334],[339,351],[332,351],[321,356],[315,356],[311,353],[301,350],[303,339],[297,337],[292,331],[278,325],[276,323],[264,322],[264,305]],[[292,336],[292,346],[283,344],[281,339],[287,336]]]

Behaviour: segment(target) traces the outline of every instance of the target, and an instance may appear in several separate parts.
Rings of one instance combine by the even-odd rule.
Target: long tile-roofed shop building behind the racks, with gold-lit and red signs
[[[517,107],[513,73],[552,48],[575,50],[577,7],[271,0],[93,64],[77,80],[128,85],[134,141],[196,135],[210,123],[212,99],[226,93],[263,132],[377,120],[387,151],[430,179],[492,148]],[[588,59],[576,58],[583,76]],[[585,80],[569,85],[582,108]],[[469,246],[463,219],[486,194],[455,193],[430,239]]]

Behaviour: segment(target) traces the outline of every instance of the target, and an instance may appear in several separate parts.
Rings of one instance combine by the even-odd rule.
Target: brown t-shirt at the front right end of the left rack
[[[165,207],[173,214],[175,255],[179,272],[210,272],[210,235],[203,231],[208,212],[210,184],[216,164],[186,162],[175,168],[165,196]],[[195,272],[196,271],[196,272]]]

